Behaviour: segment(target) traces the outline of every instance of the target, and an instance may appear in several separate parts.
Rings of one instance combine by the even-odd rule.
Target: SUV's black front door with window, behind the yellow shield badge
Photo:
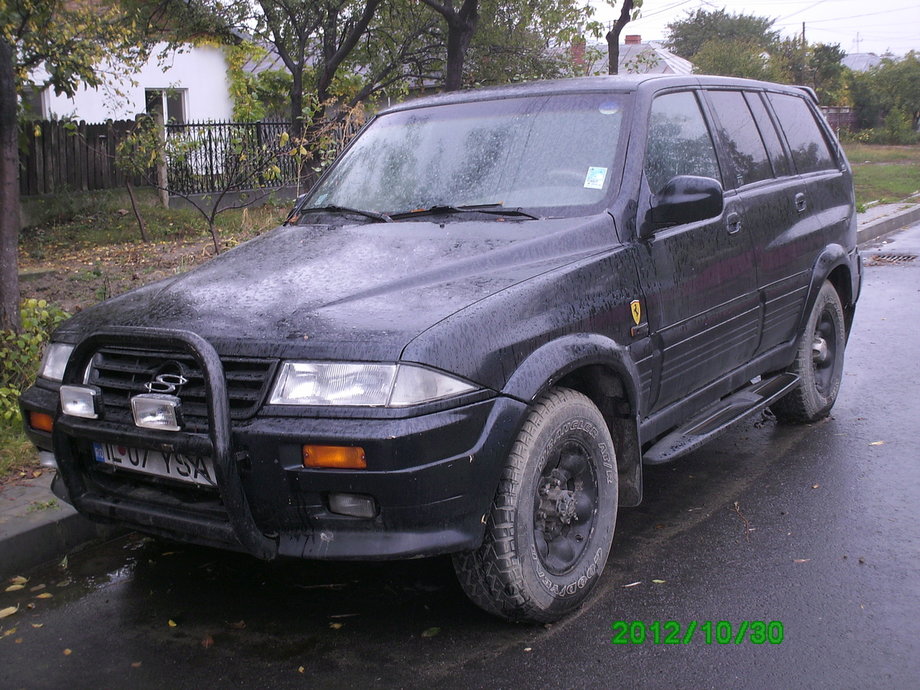
[[[653,101],[645,156],[653,194],[675,175],[722,180],[692,91]],[[649,328],[661,356],[651,410],[741,366],[757,348],[762,313],[750,237],[737,195],[729,191],[724,201],[716,218],[662,228],[638,243]]]

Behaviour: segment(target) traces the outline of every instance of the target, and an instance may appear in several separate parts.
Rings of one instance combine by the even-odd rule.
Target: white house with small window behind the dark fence
[[[86,122],[130,120],[138,113],[154,112],[179,124],[230,120],[233,100],[221,48],[187,45],[161,58],[165,47],[158,44],[140,71],[107,79],[96,88],[80,86],[73,98],[58,96],[51,88],[33,91],[26,96],[31,114]],[[35,73],[35,81],[41,83],[40,72]]]

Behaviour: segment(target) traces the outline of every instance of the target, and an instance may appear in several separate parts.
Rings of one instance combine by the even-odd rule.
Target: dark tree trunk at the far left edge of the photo
[[[0,35],[0,330],[19,331],[19,122],[13,46]]]

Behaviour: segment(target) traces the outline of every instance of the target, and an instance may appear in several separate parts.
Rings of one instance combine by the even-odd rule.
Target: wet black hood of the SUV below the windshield
[[[607,214],[280,227],[87,309],[58,337],[170,328],[225,354],[395,361],[442,319],[615,241]]]

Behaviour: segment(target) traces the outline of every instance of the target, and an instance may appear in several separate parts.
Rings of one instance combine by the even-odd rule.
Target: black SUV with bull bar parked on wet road
[[[643,463],[828,413],[860,287],[800,88],[585,78],[376,116],[285,225],[88,309],[22,396],[80,512],[260,558],[453,554],[576,608]]]

